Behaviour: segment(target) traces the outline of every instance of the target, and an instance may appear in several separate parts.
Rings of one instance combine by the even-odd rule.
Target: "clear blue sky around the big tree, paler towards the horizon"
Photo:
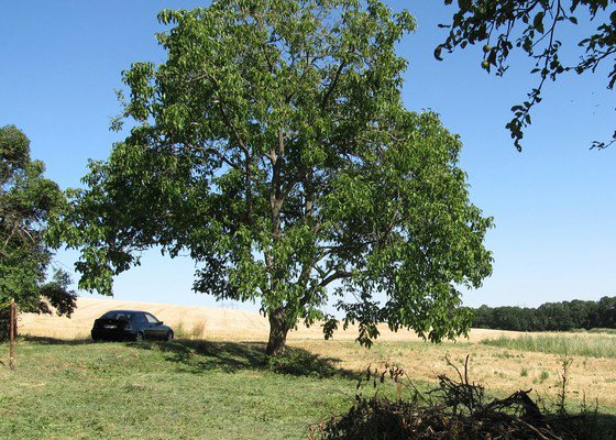
[[[534,85],[529,61],[518,58],[504,79],[481,70],[479,48],[435,61],[444,35],[437,24],[448,21],[441,3],[392,2],[407,6],[418,21],[417,32],[399,45],[409,59],[405,102],[439,112],[461,135],[472,199],[495,218],[486,243],[494,274],[464,295],[465,304],[537,306],[616,295],[616,146],[588,151],[591,141],[607,140],[616,128],[605,72],[548,84],[525,151],[517,153],[504,124]],[[121,72],[132,62],[164,59],[154,38],[162,30],[157,11],[195,6],[1,0],[0,125],[15,124],[28,134],[47,177],[63,188],[79,186],[88,158],[106,158],[121,139],[108,129],[120,111],[113,89],[122,86]],[[72,268],[75,257],[61,252],[57,264]],[[117,279],[116,297],[213,305],[190,290],[193,273],[190,261],[154,251]]]

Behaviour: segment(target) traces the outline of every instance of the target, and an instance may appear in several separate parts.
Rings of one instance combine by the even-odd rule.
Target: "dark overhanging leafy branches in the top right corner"
[[[453,0],[444,0],[450,4]],[[564,28],[586,22],[588,28],[596,24],[579,42],[568,41],[562,35]],[[541,101],[541,90],[546,80],[557,80],[561,75],[574,72],[579,75],[594,73],[600,65],[607,64],[606,86],[609,90],[616,82],[616,0],[459,0],[457,12],[450,24],[443,44],[435,51],[442,59],[443,51],[481,45],[483,69],[495,69],[503,76],[508,68],[508,59],[516,50],[535,61],[531,74],[537,75],[537,86],[528,92],[527,99],[514,106],[514,118],[506,128],[518,150],[521,150],[524,130],[530,124],[532,108]],[[562,61],[562,47],[574,52],[579,47],[575,62]],[[610,140],[593,141],[592,147],[605,148],[616,142],[616,131]]]

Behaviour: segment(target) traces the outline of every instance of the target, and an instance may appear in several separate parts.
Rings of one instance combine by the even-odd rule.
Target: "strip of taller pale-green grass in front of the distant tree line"
[[[528,336],[484,339],[485,345],[519,351],[537,351],[569,356],[616,358],[616,338],[566,336]]]

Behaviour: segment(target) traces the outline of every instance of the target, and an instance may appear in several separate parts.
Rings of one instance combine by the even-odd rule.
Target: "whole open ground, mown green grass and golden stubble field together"
[[[186,339],[90,343],[92,320],[118,308],[150,310]],[[585,396],[598,399],[601,413],[616,413],[614,356],[535,350],[519,344],[529,337],[516,332],[473,330],[468,340],[435,345],[383,329],[366,350],[354,343],[353,329],[324,341],[318,327],[299,328],[289,336],[293,359],[268,364],[266,320],[248,311],[80,298],[72,320],[24,315],[20,330],[31,337],[18,342],[18,370],[0,365],[0,439],[301,439],[310,424],[348,409],[356,374],[369,364],[400,365],[424,387],[452,372],[446,355],[458,364],[470,355],[471,380],[491,393],[534,388],[548,399],[558,392],[563,360],[571,359],[573,406]],[[541,338],[570,339],[575,346],[616,341],[590,332]],[[482,343],[486,339],[497,346]],[[7,355],[0,345],[0,361]]]

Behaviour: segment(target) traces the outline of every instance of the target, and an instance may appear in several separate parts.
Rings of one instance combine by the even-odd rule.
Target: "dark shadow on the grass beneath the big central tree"
[[[167,361],[175,362],[183,371],[191,373],[215,369],[229,373],[260,370],[294,376],[359,377],[355,372],[338,367],[340,359],[319,356],[305,349],[289,346],[285,354],[268,358],[262,342],[176,340],[170,343],[145,341],[130,345],[143,350],[160,350],[166,353]]]

